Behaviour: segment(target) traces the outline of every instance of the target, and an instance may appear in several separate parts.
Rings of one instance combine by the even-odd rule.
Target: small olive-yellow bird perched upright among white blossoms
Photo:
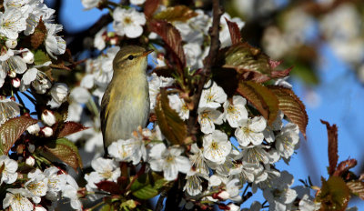
[[[101,131],[104,150],[119,139],[128,139],[149,117],[146,50],[137,45],[120,48],[113,60],[114,74],[101,101]]]

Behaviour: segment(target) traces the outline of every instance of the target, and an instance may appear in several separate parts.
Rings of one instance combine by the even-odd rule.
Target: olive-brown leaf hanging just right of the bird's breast
[[[187,137],[187,126],[178,116],[178,113],[169,106],[169,100],[165,89],[160,90],[160,95],[157,95],[156,105],[157,123],[166,136],[167,140],[172,145],[184,145]]]

